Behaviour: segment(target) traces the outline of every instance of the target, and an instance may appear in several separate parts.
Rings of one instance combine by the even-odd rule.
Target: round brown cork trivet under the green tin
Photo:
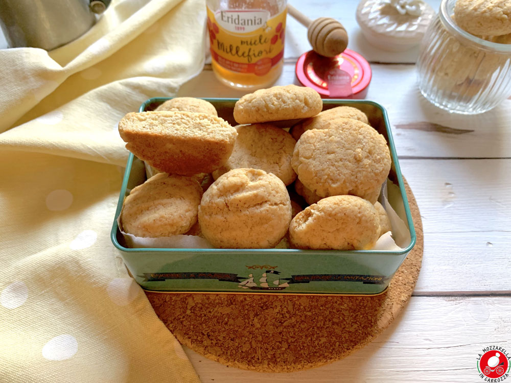
[[[181,344],[227,366],[291,372],[334,362],[378,337],[412,294],[423,231],[408,184],[406,191],[417,242],[382,295],[146,295]]]

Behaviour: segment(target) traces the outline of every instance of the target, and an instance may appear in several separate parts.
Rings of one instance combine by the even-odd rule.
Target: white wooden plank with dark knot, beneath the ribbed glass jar
[[[388,112],[398,155],[406,158],[495,158],[511,156],[511,100],[492,111],[466,116],[451,114],[430,104],[415,85],[414,65],[371,65],[366,100],[380,103]],[[294,63],[284,65],[275,85],[299,85]],[[185,83],[178,95],[190,97],[234,97],[244,90],[223,86],[212,70],[204,70]]]

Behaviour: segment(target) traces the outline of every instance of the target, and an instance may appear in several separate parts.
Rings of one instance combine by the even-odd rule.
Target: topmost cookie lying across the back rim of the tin
[[[321,96],[312,88],[273,86],[245,94],[234,106],[234,119],[238,124],[254,124],[307,118],[322,108]]]

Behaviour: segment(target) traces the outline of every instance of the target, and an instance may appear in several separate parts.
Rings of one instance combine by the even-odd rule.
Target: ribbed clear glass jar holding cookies
[[[511,44],[483,40],[453,20],[456,0],[442,0],[421,42],[417,80],[424,97],[450,112],[477,114],[511,94]]]

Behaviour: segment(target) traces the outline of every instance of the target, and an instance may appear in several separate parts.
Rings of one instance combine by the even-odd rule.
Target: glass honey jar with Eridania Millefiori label
[[[282,73],[286,0],[207,0],[212,67],[224,84],[266,88]]]

